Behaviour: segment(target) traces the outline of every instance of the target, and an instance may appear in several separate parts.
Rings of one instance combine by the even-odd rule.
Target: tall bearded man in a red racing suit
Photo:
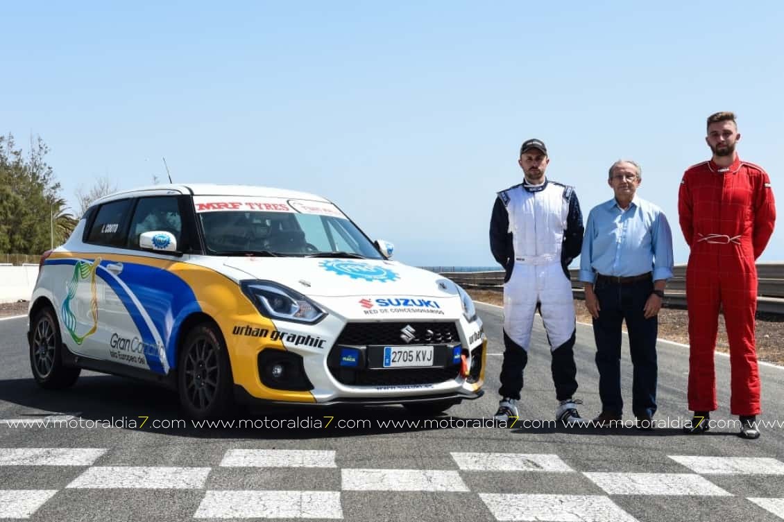
[[[735,114],[711,115],[706,142],[713,158],[686,170],[678,194],[681,229],[691,248],[686,270],[688,408],[695,414],[684,431],[708,430],[710,411],[718,408],[713,350],[721,306],[730,345],[730,410],[740,417],[739,435],[756,439],[760,376],[754,341],[754,261],[773,233],[775,203],[768,174],[738,158],[739,139]]]

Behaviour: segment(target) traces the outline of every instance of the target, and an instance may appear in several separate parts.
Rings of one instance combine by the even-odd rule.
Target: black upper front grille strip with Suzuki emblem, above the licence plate
[[[404,343],[401,330],[411,326],[415,337]],[[336,345],[368,346],[401,344],[447,344],[459,343],[457,325],[450,322],[397,322],[397,323],[349,323],[335,343]]]

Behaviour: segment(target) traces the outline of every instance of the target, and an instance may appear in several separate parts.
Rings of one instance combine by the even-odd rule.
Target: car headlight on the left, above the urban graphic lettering
[[[259,313],[270,319],[315,324],[327,315],[296,290],[272,281],[242,281],[241,288]]]

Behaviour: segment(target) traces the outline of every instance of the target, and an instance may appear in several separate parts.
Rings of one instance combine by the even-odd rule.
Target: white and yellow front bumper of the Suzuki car
[[[399,324],[398,324],[399,322]],[[410,346],[434,346],[430,367],[379,368],[378,349],[401,345],[401,327],[411,324],[420,337]],[[457,401],[480,396],[487,339],[481,321],[343,322],[328,316],[316,325],[277,328],[291,332],[281,343],[242,336],[230,346],[234,382],[241,402],[264,404],[402,404],[404,401]],[[288,339],[318,339],[288,344]],[[325,342],[321,343],[321,339]],[[358,350],[358,365],[340,364],[343,348]],[[375,350],[375,351],[374,351]],[[374,355],[374,353],[376,355]],[[465,359],[459,358],[462,353]],[[455,359],[452,359],[452,354]],[[374,361],[375,358],[375,361]],[[273,365],[278,364],[275,372]],[[468,369],[470,368],[470,372]],[[274,379],[288,372],[289,379]]]

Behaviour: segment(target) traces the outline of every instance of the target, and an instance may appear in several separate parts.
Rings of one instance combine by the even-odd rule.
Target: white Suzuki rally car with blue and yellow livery
[[[391,252],[312,194],[193,184],[101,198],[42,256],[34,378],[151,379],[198,419],[237,402],[426,414],[480,397],[487,340],[474,303]]]

